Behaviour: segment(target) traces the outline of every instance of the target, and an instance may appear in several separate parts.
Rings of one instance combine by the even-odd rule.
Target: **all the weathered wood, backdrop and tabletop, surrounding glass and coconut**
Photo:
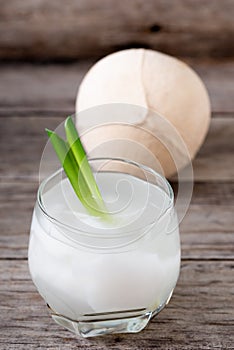
[[[0,0],[1,350],[233,349],[233,38],[234,0]],[[74,113],[98,58],[130,47],[188,62],[208,88],[211,127],[194,161],[170,304],[137,335],[77,339],[49,318],[27,268],[44,128]]]

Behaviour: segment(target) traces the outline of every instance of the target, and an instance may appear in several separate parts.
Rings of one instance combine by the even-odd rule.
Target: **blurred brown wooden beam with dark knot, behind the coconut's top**
[[[0,58],[69,60],[132,46],[230,57],[233,13],[232,0],[2,1]]]

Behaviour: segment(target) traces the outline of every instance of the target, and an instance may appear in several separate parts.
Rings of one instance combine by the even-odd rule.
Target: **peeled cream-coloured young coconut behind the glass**
[[[101,116],[79,118],[79,112],[110,103],[144,108],[126,107],[120,124],[116,124],[119,105],[111,107],[103,124]],[[76,113],[92,156],[131,158],[170,177],[202,145],[210,102],[201,79],[182,61],[157,51],[130,49],[106,56],[88,71],[78,91]],[[142,147],[136,147],[139,144]]]

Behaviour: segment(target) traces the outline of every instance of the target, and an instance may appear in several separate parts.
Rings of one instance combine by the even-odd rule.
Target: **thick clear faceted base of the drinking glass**
[[[138,333],[143,330],[150,319],[156,316],[169,302],[167,301],[154,311],[146,309],[96,313],[84,315],[80,320],[72,320],[54,312],[50,306],[53,320],[60,326],[84,338],[114,333]]]

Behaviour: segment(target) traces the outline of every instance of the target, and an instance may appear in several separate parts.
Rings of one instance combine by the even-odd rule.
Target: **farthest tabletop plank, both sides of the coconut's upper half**
[[[213,113],[224,116],[228,113],[233,117],[234,61],[187,62],[207,86]],[[56,117],[74,113],[76,92],[92,63],[0,65],[0,116],[37,113]]]

